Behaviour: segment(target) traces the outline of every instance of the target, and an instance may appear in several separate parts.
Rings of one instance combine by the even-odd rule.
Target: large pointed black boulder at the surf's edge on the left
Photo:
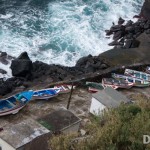
[[[16,77],[27,77],[31,75],[32,61],[26,52],[23,52],[11,63],[12,75]]]

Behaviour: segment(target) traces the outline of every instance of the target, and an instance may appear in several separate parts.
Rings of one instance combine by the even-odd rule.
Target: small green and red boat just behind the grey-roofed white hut
[[[86,82],[86,85],[89,87],[88,91],[90,93],[96,93],[99,90],[103,90],[104,87],[101,83],[97,83],[97,82]]]

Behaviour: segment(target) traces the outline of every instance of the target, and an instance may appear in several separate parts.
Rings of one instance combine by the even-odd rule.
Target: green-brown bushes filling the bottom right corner
[[[150,135],[150,101],[136,101],[110,109],[101,117],[91,117],[84,130],[87,138],[78,134],[58,135],[50,140],[52,150],[150,150],[143,144],[143,135]]]

